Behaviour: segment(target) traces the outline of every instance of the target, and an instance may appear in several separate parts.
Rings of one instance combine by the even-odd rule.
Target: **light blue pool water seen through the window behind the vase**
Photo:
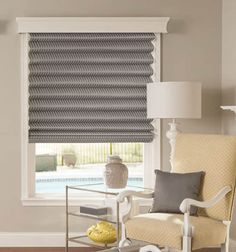
[[[103,183],[103,178],[50,178],[36,179],[36,193],[65,193],[65,186]],[[129,178],[128,186],[143,186],[143,178]],[[97,188],[99,189],[99,188]]]

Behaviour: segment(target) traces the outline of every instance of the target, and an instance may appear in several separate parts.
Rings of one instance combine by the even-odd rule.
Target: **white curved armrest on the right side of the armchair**
[[[221,199],[223,199],[225,195],[229,193],[231,190],[232,189],[230,186],[225,186],[214,197],[206,201],[198,201],[198,200],[189,199],[189,198],[184,199],[182,203],[180,204],[179,209],[182,213],[187,213],[187,212],[189,213],[190,206],[196,206],[196,207],[201,207],[201,208],[212,207]]]

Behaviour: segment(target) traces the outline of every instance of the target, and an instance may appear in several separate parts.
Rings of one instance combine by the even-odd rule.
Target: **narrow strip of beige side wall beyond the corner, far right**
[[[236,104],[236,1],[223,0],[222,11],[222,105]],[[236,135],[236,116],[222,112],[222,133]],[[236,240],[236,208],[231,227],[231,238]]]

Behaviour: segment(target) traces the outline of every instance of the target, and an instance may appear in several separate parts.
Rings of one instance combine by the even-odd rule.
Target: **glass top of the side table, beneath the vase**
[[[102,193],[102,194],[110,194],[110,195],[118,195],[120,192],[124,190],[134,190],[134,191],[148,191],[152,192],[152,189],[139,187],[139,186],[129,186],[127,185],[124,188],[109,188],[104,183],[96,183],[96,184],[87,184],[87,185],[78,185],[78,186],[67,186],[68,189],[82,190],[88,192]]]

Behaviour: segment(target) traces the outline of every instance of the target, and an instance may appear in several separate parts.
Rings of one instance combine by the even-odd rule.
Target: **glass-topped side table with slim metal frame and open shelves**
[[[78,186],[66,186],[66,246],[65,246],[66,252],[68,252],[69,250],[69,242],[75,242],[75,243],[79,243],[79,244],[83,244],[83,245],[87,245],[91,247],[97,247],[100,249],[101,248],[112,249],[112,248],[119,247],[119,242],[120,242],[120,237],[121,237],[120,203],[116,201],[115,199],[116,199],[116,196],[123,190],[134,190],[134,191],[139,191],[139,192],[144,192],[147,190],[150,191],[150,189],[148,188],[136,187],[136,186],[127,186],[126,188],[122,188],[122,189],[111,189],[111,188],[107,188],[103,183],[78,185]],[[111,213],[107,215],[102,215],[102,216],[84,214],[84,213],[81,213],[79,210],[72,211],[70,209],[70,204],[69,204],[69,196],[70,196],[69,194],[72,193],[72,191],[73,191],[73,196],[74,197],[76,196],[78,199],[81,199],[81,200],[83,200],[84,197],[82,197],[82,194],[78,193],[79,191],[86,193],[87,195],[92,194],[94,199],[97,199],[99,195],[99,199],[103,200],[104,206],[106,206],[106,203],[109,201],[109,199],[112,199],[114,209]],[[80,206],[82,206],[82,204]],[[79,236],[70,236],[70,231],[69,231],[70,229],[69,217],[70,216],[80,217],[80,218],[85,218],[85,219],[87,218],[87,219],[98,220],[98,221],[107,221],[109,223],[112,223],[113,225],[116,226],[117,241],[113,244],[109,244],[105,246],[104,244],[99,244],[99,243],[95,243],[91,241],[85,233]]]

